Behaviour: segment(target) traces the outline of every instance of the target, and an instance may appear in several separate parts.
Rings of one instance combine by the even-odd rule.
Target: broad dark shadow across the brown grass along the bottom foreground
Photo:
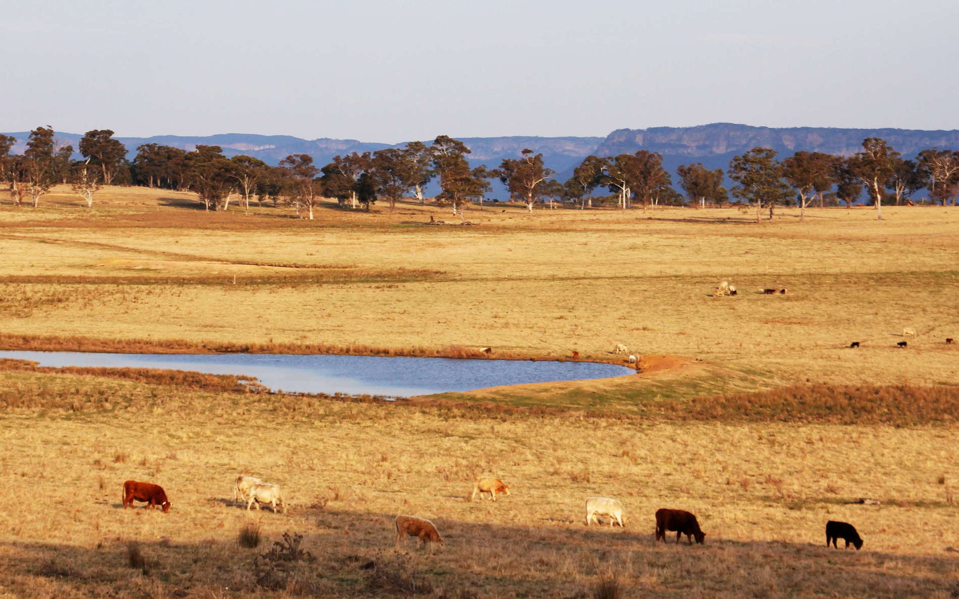
[[[264,578],[250,567],[253,556],[266,555],[284,541],[282,532],[289,531],[293,537],[302,535],[299,546],[311,554],[302,564],[284,563],[286,571],[294,572],[289,580],[313,585],[317,594],[327,596],[371,593],[377,577],[394,580],[394,574],[432,585],[446,596],[588,597],[598,578],[610,574],[620,581],[620,595],[630,597],[949,596],[959,590],[948,574],[959,567],[955,554],[871,551],[870,543],[881,541],[868,537],[861,551],[827,549],[825,539],[812,542],[819,539],[819,531],[810,531],[810,542],[735,541],[718,533],[710,536],[707,520],[706,543],[690,546],[685,539],[676,544],[674,537],[656,541],[652,521],[627,520],[623,529],[582,521],[556,520],[550,526],[433,517],[445,545],[431,555],[417,549],[414,539],[404,541],[396,552],[393,518],[304,507],[279,528],[263,520],[262,541],[244,548],[238,534],[248,518],[227,518],[219,528],[204,526],[197,532],[184,528],[189,524],[171,512],[157,518],[149,532],[139,533],[148,537],[143,539],[130,532],[123,538],[87,535],[88,541],[81,538],[75,544],[0,541],[0,573],[13,581],[9,591],[24,596],[37,585],[51,591],[108,590],[119,595],[142,595],[149,586],[152,596],[225,588],[289,590],[282,586],[288,579]],[[202,540],[179,541],[180,534]],[[263,563],[269,559],[261,558]],[[136,570],[137,575],[130,576]],[[280,586],[264,587],[268,583]],[[178,594],[181,591],[186,594]]]

